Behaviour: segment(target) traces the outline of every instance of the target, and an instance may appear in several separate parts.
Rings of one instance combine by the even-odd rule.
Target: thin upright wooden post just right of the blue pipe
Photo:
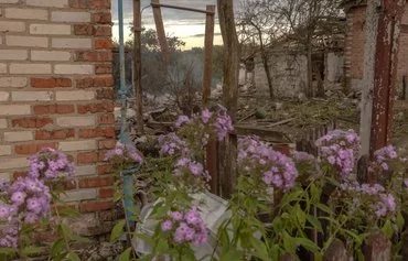
[[[133,0],[133,85],[136,95],[136,118],[139,133],[144,133],[143,128],[143,99],[141,86],[141,10],[140,0]]]

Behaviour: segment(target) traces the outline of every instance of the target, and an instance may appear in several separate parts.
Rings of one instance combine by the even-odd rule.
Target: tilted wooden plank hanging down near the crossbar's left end
[[[155,31],[158,33],[159,44],[163,57],[163,66],[164,72],[168,73],[169,64],[170,64],[170,52],[169,52],[169,44],[165,37],[163,18],[161,15],[160,9],[160,0],[151,0],[152,8],[153,8],[153,17],[155,23]]]

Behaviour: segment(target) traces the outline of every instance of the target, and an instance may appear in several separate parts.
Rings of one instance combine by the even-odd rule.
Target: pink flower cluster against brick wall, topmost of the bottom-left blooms
[[[51,148],[43,149],[30,159],[28,176],[52,181],[60,177],[69,177],[74,174],[74,166],[68,157]]]

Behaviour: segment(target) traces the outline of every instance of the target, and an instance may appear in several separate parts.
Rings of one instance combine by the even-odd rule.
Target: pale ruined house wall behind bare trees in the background
[[[307,57],[286,53],[269,57],[272,85],[277,97],[298,97],[308,80]],[[260,57],[256,58],[254,80],[259,96],[269,96],[268,80]]]

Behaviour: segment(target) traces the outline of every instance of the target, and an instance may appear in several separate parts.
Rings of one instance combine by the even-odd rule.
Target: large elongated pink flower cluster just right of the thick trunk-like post
[[[239,140],[238,163],[248,175],[260,173],[265,184],[283,191],[292,188],[299,175],[292,159],[272,150],[257,137]]]

